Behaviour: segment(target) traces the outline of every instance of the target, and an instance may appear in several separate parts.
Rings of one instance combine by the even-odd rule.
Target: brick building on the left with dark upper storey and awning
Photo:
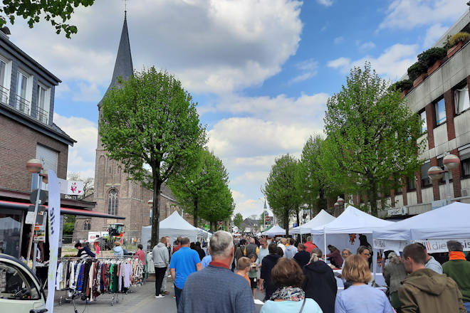
[[[12,43],[7,29],[0,31],[0,253],[26,258],[31,227],[24,218],[38,179],[26,162],[40,159],[45,170],[66,179],[68,147],[75,140],[53,122],[61,80]],[[61,198],[61,214],[90,216],[93,206]]]

